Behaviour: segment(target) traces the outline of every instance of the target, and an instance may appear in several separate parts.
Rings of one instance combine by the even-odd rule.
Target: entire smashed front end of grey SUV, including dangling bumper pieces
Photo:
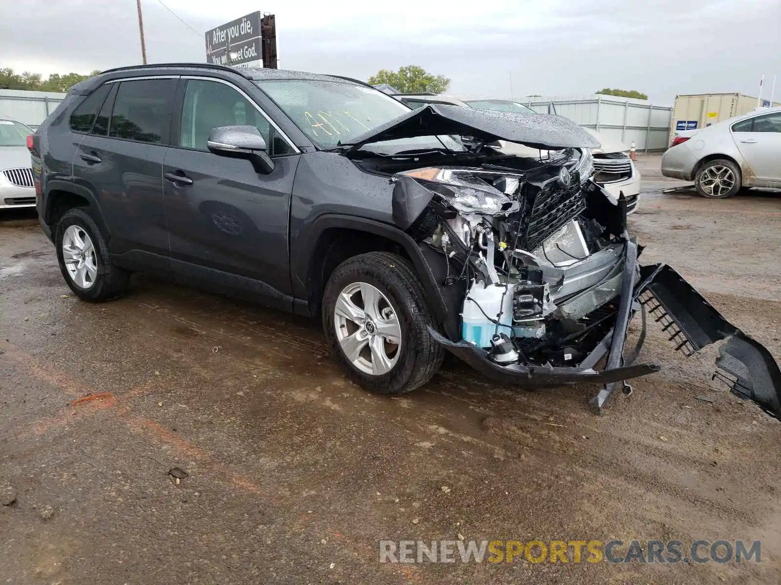
[[[433,339],[497,381],[597,381],[603,387],[592,404],[601,410],[616,389],[631,392],[627,380],[659,371],[635,363],[650,315],[686,353],[726,339],[715,376],[781,417],[781,372],[770,353],[672,268],[638,264],[642,247],[626,231],[626,200],[613,204],[588,180],[586,152],[394,175],[394,222],[440,267],[451,303],[450,335],[430,328]],[[628,349],[637,313],[640,335]]]

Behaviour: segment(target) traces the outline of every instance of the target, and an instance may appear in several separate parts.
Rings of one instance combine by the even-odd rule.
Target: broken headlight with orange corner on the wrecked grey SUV
[[[424,183],[464,214],[506,215],[519,209],[517,201],[489,182],[489,177],[495,173],[472,168],[426,167],[399,174]]]

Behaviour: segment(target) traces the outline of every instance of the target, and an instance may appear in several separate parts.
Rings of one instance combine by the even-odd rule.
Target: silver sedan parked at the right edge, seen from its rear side
[[[677,134],[662,157],[662,175],[694,181],[697,193],[712,199],[741,186],[781,189],[781,108]]]

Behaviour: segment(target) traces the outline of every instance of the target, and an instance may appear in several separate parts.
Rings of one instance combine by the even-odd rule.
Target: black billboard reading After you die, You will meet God
[[[230,23],[206,31],[206,61],[216,65],[241,65],[261,60],[260,12],[251,12]],[[230,58],[230,53],[235,56]]]

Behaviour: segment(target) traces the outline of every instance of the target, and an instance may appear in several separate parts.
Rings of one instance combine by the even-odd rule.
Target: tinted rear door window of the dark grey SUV
[[[109,136],[152,144],[168,144],[176,79],[119,83]]]

